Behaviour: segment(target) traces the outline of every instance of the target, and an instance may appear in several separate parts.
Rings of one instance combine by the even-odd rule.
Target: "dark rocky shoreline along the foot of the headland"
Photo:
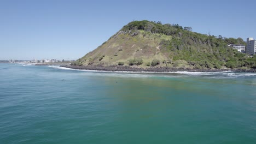
[[[218,71],[237,71],[237,72],[247,72],[247,73],[256,73],[256,69],[182,69],[182,68],[136,68],[128,66],[75,66],[75,65],[61,65],[60,67],[71,68],[71,69],[80,69],[80,70],[100,70],[100,71],[132,71],[132,72],[174,72],[174,71],[190,71],[190,72],[218,72]]]

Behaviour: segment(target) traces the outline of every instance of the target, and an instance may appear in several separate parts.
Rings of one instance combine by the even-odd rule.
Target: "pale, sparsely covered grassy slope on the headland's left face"
[[[163,61],[167,58],[161,53],[160,42],[163,39],[171,38],[164,34],[152,34],[144,31],[137,31],[137,35],[133,37],[130,34],[119,34],[89,52],[81,58],[83,59],[81,61],[83,61],[83,65],[88,65],[89,62],[94,62],[96,65],[117,65],[118,62],[124,62],[125,65],[128,65],[129,59],[141,58],[143,64],[140,67],[146,67],[146,63],[152,62],[153,59]],[[99,61],[102,56],[104,57]]]

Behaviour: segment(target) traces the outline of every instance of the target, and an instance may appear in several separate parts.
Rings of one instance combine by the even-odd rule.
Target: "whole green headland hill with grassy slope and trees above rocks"
[[[178,24],[132,21],[72,65],[185,69],[255,67],[255,57],[231,49],[228,43],[246,44],[241,38],[200,34]]]

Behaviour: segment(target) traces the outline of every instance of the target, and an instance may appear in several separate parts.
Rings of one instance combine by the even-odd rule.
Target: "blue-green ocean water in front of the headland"
[[[256,73],[0,64],[0,143],[256,143]]]

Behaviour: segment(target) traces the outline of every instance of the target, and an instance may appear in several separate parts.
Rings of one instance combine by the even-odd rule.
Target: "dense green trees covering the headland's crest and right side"
[[[171,35],[172,39],[161,40],[161,52],[168,53],[172,61],[184,60],[196,69],[220,69],[256,67],[256,58],[250,58],[237,52],[227,44],[246,45],[242,38],[223,38],[210,34],[192,32],[191,27],[161,22],[133,21],[124,26],[122,31],[143,30],[151,33]],[[166,59],[167,61],[168,59]],[[164,63],[164,62],[163,62]]]

